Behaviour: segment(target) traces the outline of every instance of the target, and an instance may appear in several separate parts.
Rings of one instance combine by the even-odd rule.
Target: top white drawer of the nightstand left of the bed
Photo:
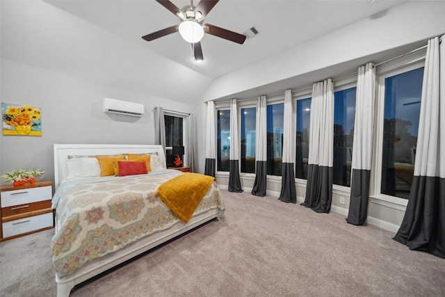
[[[51,198],[51,186],[40,186],[38,188],[22,188],[19,190],[5,191],[1,193],[1,207],[10,207],[18,204],[51,200]]]

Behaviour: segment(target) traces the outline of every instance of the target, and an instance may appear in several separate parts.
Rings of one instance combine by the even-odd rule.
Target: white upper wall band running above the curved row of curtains
[[[261,86],[281,84],[281,81],[287,80],[289,85],[282,89],[284,93],[286,88],[300,86],[301,76],[312,75],[311,72],[316,70],[336,66],[341,71],[342,63],[442,35],[445,33],[444,11],[445,1],[407,1],[374,18],[362,19],[219,77],[207,88],[202,102],[256,88],[260,89],[256,96],[267,95],[270,94],[267,88]],[[354,71],[356,68],[350,70]],[[337,72],[338,74],[342,73]],[[315,81],[327,79],[323,72],[320,75],[314,77]],[[296,79],[289,80],[293,77]]]

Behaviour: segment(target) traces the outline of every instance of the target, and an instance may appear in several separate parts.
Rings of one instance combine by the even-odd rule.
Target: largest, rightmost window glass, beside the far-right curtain
[[[381,193],[409,198],[419,129],[423,67],[385,79]]]

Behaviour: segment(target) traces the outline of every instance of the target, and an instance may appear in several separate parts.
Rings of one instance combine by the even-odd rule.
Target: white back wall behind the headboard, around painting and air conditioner
[[[1,59],[1,102],[42,109],[42,136],[0,136],[0,172],[42,168],[54,180],[54,143],[154,144],[152,109],[191,113],[195,106]],[[145,105],[143,118],[102,111],[111,97]]]

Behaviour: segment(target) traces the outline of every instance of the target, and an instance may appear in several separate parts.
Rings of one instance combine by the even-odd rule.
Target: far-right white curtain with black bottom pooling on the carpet
[[[423,250],[442,258],[445,258],[444,54],[439,38],[428,41],[410,200],[394,236],[410,250]]]

